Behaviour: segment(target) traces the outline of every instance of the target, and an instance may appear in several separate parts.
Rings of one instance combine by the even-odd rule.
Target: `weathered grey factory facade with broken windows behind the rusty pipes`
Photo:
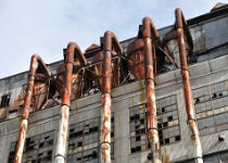
[[[228,5],[187,21],[193,41],[189,58],[189,74],[195,122],[205,163],[228,162]],[[173,26],[159,29],[163,38]],[[125,52],[136,38],[121,42]],[[175,43],[174,43],[175,46]],[[98,48],[98,47],[96,47]],[[88,51],[94,50],[91,48]],[[65,52],[65,50],[64,50]],[[174,49],[174,55],[176,51]],[[178,51],[177,51],[178,53]],[[88,63],[92,54],[85,52]],[[125,54],[126,55],[126,54]],[[117,58],[118,59],[118,58]],[[178,62],[178,58],[176,58]],[[48,65],[56,77],[63,61]],[[83,66],[87,70],[89,66]],[[147,163],[150,161],[150,140],[147,129],[147,98],[144,79],[128,79],[112,89],[111,159],[114,163]],[[78,73],[79,74],[79,73]],[[28,72],[0,79],[0,158],[11,163],[15,156],[21,116],[25,101]],[[49,85],[50,80],[46,84]],[[162,155],[170,162],[193,163],[195,151],[187,124],[180,68],[165,59],[155,78],[157,131]],[[77,85],[78,80],[73,82]],[[81,83],[80,83],[81,84]],[[61,98],[51,87],[36,87],[33,100],[45,95],[45,102],[35,110],[30,105],[23,163],[54,162]],[[73,90],[78,89],[73,86]],[[72,93],[65,162],[99,162],[102,96],[91,87],[76,98]],[[39,105],[38,104],[38,105]]]

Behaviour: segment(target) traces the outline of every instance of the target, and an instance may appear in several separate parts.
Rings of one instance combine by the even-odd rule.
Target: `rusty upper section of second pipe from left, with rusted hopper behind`
[[[58,76],[55,80],[55,87],[63,99],[63,103],[66,105],[68,105],[67,101],[71,100],[72,91],[74,93],[74,99],[81,97],[83,92],[85,91],[85,80],[83,75],[78,73],[81,66],[88,64],[77,43],[69,42],[67,47],[65,61],[58,67]],[[74,59],[74,55],[77,58]]]

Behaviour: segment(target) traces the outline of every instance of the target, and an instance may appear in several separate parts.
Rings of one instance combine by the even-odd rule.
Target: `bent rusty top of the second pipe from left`
[[[68,55],[73,54],[73,57],[74,57],[74,54],[76,54],[76,57],[79,60],[80,65],[87,65],[88,64],[84,53],[81,52],[80,48],[78,47],[78,45],[76,42],[73,42],[73,41],[69,42],[67,45],[67,51],[66,52],[67,52],[67,54],[66,54],[65,62],[67,62],[67,60],[68,60],[67,57]]]

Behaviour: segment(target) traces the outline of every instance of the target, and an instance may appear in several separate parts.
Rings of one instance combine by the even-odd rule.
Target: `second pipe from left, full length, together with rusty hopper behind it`
[[[77,59],[74,57],[76,55]],[[80,48],[75,42],[69,42],[67,46],[64,63],[60,65],[56,70],[58,77],[55,82],[55,87],[62,98],[62,112],[60,118],[60,130],[58,135],[58,142],[62,141],[61,146],[55,150],[55,162],[59,156],[63,156],[65,159],[65,146],[66,146],[66,131],[68,126],[68,109],[71,105],[71,95],[73,89],[73,83],[83,82],[80,75],[78,75],[77,71],[80,66],[87,65],[87,60]],[[74,73],[75,72],[75,73]],[[81,88],[79,88],[80,84],[75,85],[76,92],[74,92],[75,98],[80,96]],[[61,140],[62,139],[62,140]]]

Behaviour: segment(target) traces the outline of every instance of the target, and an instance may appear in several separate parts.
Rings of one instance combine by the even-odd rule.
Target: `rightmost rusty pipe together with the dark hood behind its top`
[[[182,85],[183,85],[183,95],[185,95],[185,102],[186,102],[186,112],[188,116],[188,125],[192,133],[191,138],[193,142],[194,151],[195,151],[195,155],[194,155],[195,162],[203,163],[199,130],[195,124],[195,117],[193,113],[190,77],[189,77],[188,62],[187,62],[188,61],[187,55],[192,54],[193,43],[192,43],[191,34],[186,23],[182,11],[180,9],[176,9],[175,16],[176,16],[175,25],[173,29],[164,36],[163,43],[164,46],[167,46],[169,40],[172,39],[177,40],[178,49],[179,49],[179,63],[180,63]],[[187,46],[188,46],[188,49],[187,49]]]

